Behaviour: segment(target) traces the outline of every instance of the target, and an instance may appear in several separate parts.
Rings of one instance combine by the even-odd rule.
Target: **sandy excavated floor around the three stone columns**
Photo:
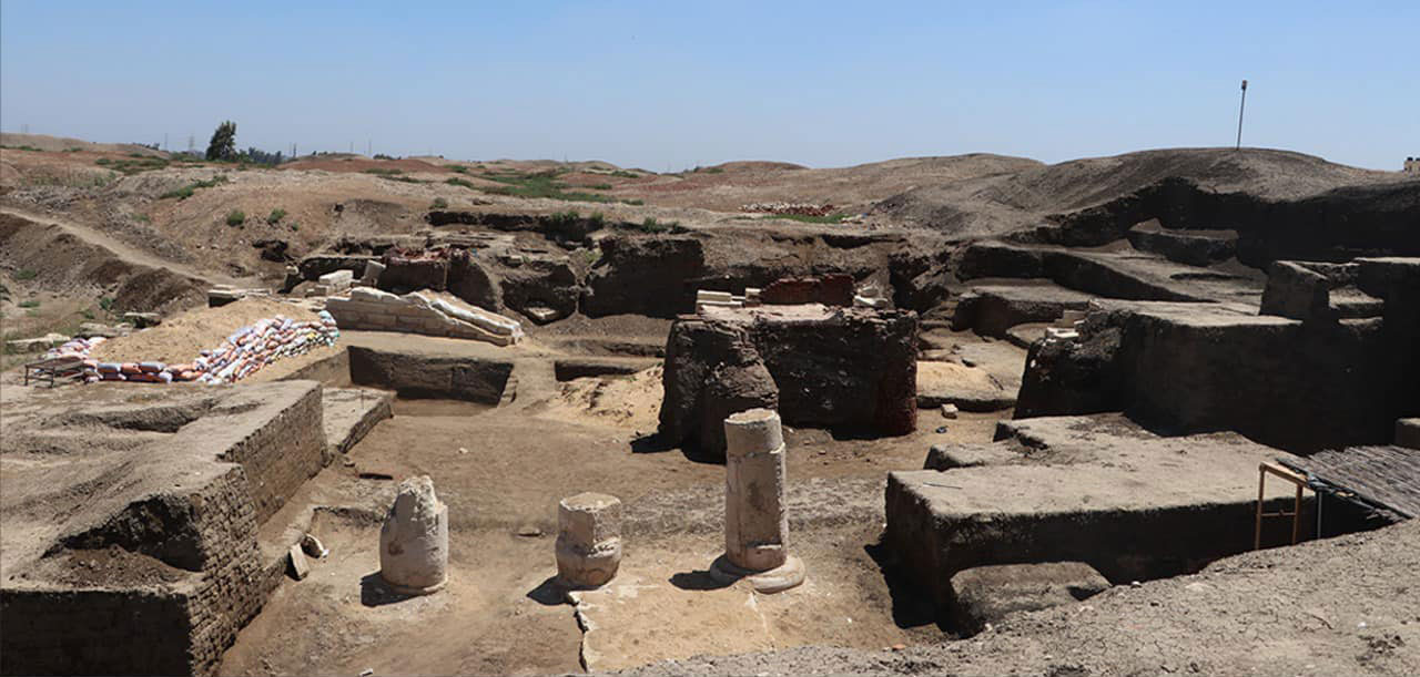
[[[355,332],[351,341],[382,338]],[[525,369],[527,360],[547,362],[558,352],[524,346],[517,355]],[[706,576],[723,551],[724,467],[638,444],[638,433],[655,430],[657,372],[567,383],[523,376],[517,402],[497,409],[398,402],[396,416],[356,444],[348,464],[332,464],[302,491],[324,507],[312,532],[334,554],[307,580],[281,585],[241,632],[222,674],[312,666],[335,674],[579,670],[582,632],[550,579],[557,501],[581,491],[611,492],[626,505],[623,572],[599,602],[584,606],[599,629],[589,636],[592,668],[706,651],[814,643],[882,649],[941,637],[930,610],[899,599],[876,559],[882,478],[886,470],[920,468],[932,443],[990,440],[1000,414],[949,422],[922,412],[917,433],[882,440],[787,430],[791,544],[809,582],[763,596]],[[939,424],[949,426],[939,433]],[[378,519],[395,483],[359,473],[435,477],[450,507],[446,593],[385,600],[375,589]]]

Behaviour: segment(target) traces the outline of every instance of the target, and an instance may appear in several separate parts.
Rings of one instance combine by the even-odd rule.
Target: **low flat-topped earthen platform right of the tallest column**
[[[1247,551],[1258,463],[1287,456],[1237,436],[1156,437],[1120,417],[1037,422],[1052,426],[995,446],[1014,446],[1020,464],[997,453],[993,466],[889,473],[889,546],[939,603],[974,566],[1078,561],[1127,583]],[[1268,498],[1291,507],[1292,491],[1269,483]],[[1265,527],[1264,544],[1291,535],[1289,519]]]

